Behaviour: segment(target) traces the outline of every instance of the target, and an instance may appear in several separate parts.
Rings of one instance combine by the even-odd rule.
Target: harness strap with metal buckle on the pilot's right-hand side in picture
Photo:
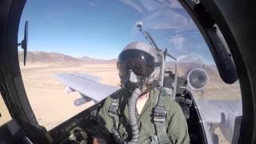
[[[159,143],[168,143],[166,134],[166,92],[162,88],[158,97],[158,103],[154,107],[154,126]]]

